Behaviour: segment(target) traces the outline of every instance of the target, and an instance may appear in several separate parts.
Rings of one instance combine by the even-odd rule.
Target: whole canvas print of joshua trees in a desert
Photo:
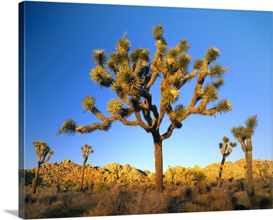
[[[19,4],[19,217],[272,209],[272,12]]]

